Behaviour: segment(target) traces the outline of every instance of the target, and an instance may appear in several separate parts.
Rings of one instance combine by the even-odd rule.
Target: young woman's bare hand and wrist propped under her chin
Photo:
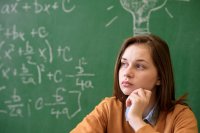
[[[151,98],[151,91],[139,88],[134,90],[126,100],[126,107],[130,107],[128,121],[131,127],[137,131],[146,123],[142,120],[145,109]]]

